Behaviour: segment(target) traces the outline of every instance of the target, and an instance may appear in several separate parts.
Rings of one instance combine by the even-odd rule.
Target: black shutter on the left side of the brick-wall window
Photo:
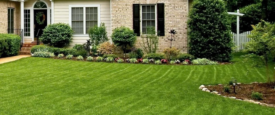
[[[140,36],[140,4],[133,4],[133,30]]]

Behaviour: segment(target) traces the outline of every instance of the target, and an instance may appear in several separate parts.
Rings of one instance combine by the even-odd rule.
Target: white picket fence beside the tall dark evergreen
[[[251,31],[243,32],[239,34],[239,39],[237,39],[237,34],[231,32],[233,35],[233,43],[236,46],[235,51],[239,51],[241,49],[245,49],[245,43],[249,42],[251,39],[247,38],[247,35],[251,34]]]

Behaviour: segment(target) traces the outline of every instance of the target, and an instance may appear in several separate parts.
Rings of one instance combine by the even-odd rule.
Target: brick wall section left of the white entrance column
[[[20,2],[0,0],[0,33],[7,33],[8,8],[14,8],[14,29],[20,29]]]

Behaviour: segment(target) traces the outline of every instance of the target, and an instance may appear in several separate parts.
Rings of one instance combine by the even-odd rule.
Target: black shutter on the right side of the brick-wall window
[[[157,3],[157,31],[164,36],[164,3]]]

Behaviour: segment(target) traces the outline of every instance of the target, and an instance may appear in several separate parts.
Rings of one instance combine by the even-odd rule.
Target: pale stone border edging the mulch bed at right
[[[253,83],[258,83],[258,82],[253,82]],[[250,84],[252,84],[252,83],[250,83]],[[219,86],[221,86],[221,85],[222,84],[219,84]],[[241,85],[241,83],[237,83],[237,85]],[[211,86],[211,85],[208,85],[208,86]],[[199,89],[201,89],[202,91],[206,91],[206,92],[212,93],[212,94],[221,95],[217,91],[210,92],[210,90],[208,90],[204,85],[201,85],[199,87]],[[225,97],[225,96],[222,96],[222,97]],[[246,101],[246,102],[250,102],[250,103],[253,103],[253,104],[258,104],[258,105],[267,106],[267,107],[271,107],[271,108],[275,108],[275,105],[273,105],[273,104],[269,105],[269,104],[257,102],[257,101],[254,101],[254,100],[248,100],[248,99],[242,100],[242,99],[237,99],[236,97],[228,97],[228,98],[239,100],[239,101]]]

